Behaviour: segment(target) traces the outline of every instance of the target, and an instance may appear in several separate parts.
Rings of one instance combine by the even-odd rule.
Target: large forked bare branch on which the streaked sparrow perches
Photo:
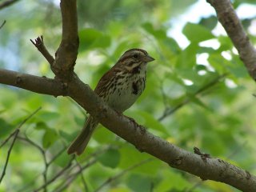
[[[211,179],[225,182],[239,190],[256,191],[256,178],[246,170],[242,170],[218,158],[202,158],[199,154],[182,150],[178,146],[174,146],[170,142],[150,134],[144,126],[140,126],[130,118],[117,114],[116,111],[102,102],[102,99],[73,72],[74,62],[78,53],[76,2],[74,0],[62,0],[61,9],[63,21],[62,43],[58,48],[53,71],[65,83],[62,84],[53,79],[38,78],[29,74],[19,74],[17,77],[18,73],[6,70],[0,70],[0,82],[41,94],[70,96],[83,109],[98,118],[103,126],[106,126],[106,128],[114,132],[114,134],[118,134],[127,142],[132,143],[138,150],[145,151],[178,170],[184,170],[204,180]],[[2,78],[2,74],[8,74],[11,78],[6,80]],[[8,75],[5,77],[8,78]],[[52,181],[54,180],[48,182]],[[40,189],[42,188],[43,186],[40,187]]]

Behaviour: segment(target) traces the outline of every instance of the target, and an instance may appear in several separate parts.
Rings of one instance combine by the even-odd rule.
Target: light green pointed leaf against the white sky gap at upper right
[[[215,38],[206,27],[191,22],[184,26],[182,33],[186,35],[190,42],[203,42]]]

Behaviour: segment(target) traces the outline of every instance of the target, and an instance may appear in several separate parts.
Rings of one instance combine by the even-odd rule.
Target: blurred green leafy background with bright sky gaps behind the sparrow
[[[243,10],[256,10],[256,2],[233,2],[255,43],[255,11]],[[62,34],[58,3],[21,0],[0,10],[1,68],[54,78],[30,38],[42,34],[54,55]],[[78,1],[75,72],[94,89],[124,51],[147,50],[156,61],[145,92],[125,114],[183,149],[197,146],[256,174],[255,84],[214,15],[200,0]],[[0,85],[0,142],[39,106],[21,128],[0,192],[34,191],[52,178],[47,191],[238,191],[174,170],[102,126],[86,153],[69,157],[65,149],[86,114],[70,98]],[[11,141],[0,149],[1,174]]]

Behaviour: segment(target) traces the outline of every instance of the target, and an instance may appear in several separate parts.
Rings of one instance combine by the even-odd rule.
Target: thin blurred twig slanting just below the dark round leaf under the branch
[[[151,162],[152,160],[153,160],[153,158],[147,158],[147,159],[143,160],[142,162],[138,162],[138,163],[134,164],[133,166],[128,167],[126,170],[122,170],[120,173],[114,175],[114,177],[110,177],[110,178],[106,179],[106,181],[103,182],[101,186],[98,186],[98,188],[95,190],[95,192],[102,190],[102,188],[104,186],[110,184],[110,182],[113,182],[114,180],[121,178],[122,175],[126,174],[128,171],[133,170],[133,169],[137,168],[138,166],[142,166],[146,162]]]

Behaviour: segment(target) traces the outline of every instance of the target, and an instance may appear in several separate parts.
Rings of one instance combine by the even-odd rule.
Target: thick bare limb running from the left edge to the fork
[[[12,70],[0,69],[0,83],[30,90],[38,94],[54,95],[54,97],[66,95],[66,86],[62,82]]]

